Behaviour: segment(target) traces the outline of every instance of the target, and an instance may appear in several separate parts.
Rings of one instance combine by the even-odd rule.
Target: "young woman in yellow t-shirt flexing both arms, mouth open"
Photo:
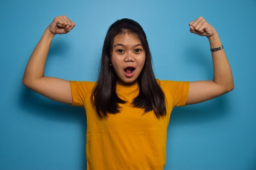
[[[74,26],[66,16],[54,18],[29,59],[22,83],[55,101],[85,108],[88,170],[163,170],[173,107],[204,102],[234,88],[218,33],[202,17],[189,26],[191,33],[209,39],[213,80],[156,79],[146,34],[137,22],[126,18],[108,29],[97,82],[45,77],[52,38]]]

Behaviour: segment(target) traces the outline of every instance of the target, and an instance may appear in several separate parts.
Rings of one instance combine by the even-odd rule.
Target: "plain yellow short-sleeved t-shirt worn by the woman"
[[[133,108],[132,99],[139,94],[138,85],[117,85],[117,95],[126,101],[121,113],[101,119],[90,97],[95,82],[70,81],[73,104],[85,108],[87,116],[87,170],[163,170],[166,163],[166,132],[174,106],[184,106],[189,82],[161,81],[166,97],[166,116]]]

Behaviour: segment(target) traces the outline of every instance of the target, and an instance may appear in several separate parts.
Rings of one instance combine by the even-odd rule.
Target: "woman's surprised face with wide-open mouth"
[[[111,64],[117,74],[117,84],[137,84],[146,59],[141,41],[131,33],[122,33],[114,38]]]

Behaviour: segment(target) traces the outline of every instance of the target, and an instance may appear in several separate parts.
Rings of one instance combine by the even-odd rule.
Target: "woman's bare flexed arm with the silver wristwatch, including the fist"
[[[222,46],[217,31],[204,18],[189,23],[190,32],[206,36],[211,49]],[[213,60],[213,80],[189,82],[186,104],[196,104],[213,99],[234,89],[233,76],[224,49],[211,52]]]

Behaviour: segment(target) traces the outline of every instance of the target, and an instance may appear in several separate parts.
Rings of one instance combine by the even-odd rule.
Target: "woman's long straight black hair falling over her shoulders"
[[[117,96],[118,77],[114,69],[110,67],[114,38],[122,33],[132,33],[139,38],[146,53],[144,66],[137,78],[139,95],[133,99],[132,105],[144,109],[144,113],[153,110],[157,118],[166,115],[165,97],[153,73],[146,34],[139,23],[127,18],[114,22],[109,27],[104,40],[99,77],[91,96],[97,114],[102,118],[107,117],[108,113],[119,113],[119,104],[126,102]]]

